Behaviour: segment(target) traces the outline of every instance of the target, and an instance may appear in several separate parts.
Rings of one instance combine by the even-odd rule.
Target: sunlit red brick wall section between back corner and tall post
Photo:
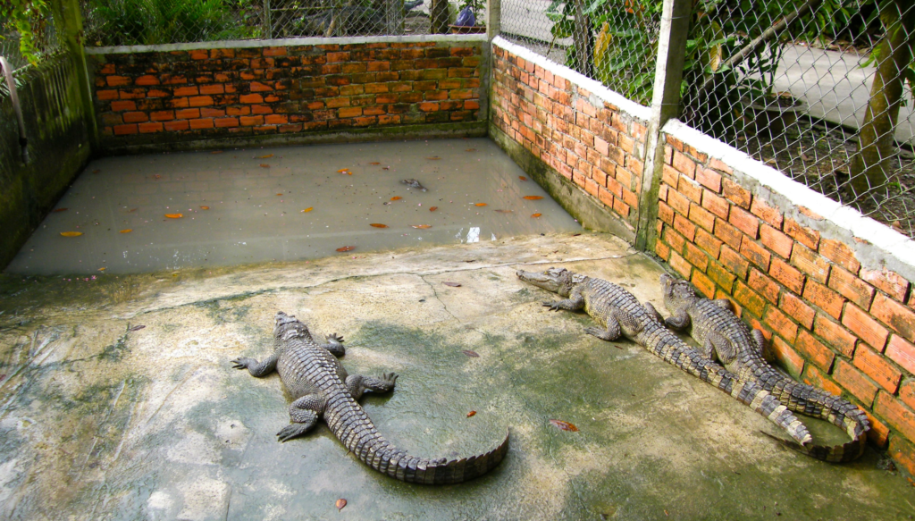
[[[646,121],[493,46],[490,124],[635,230]]]

